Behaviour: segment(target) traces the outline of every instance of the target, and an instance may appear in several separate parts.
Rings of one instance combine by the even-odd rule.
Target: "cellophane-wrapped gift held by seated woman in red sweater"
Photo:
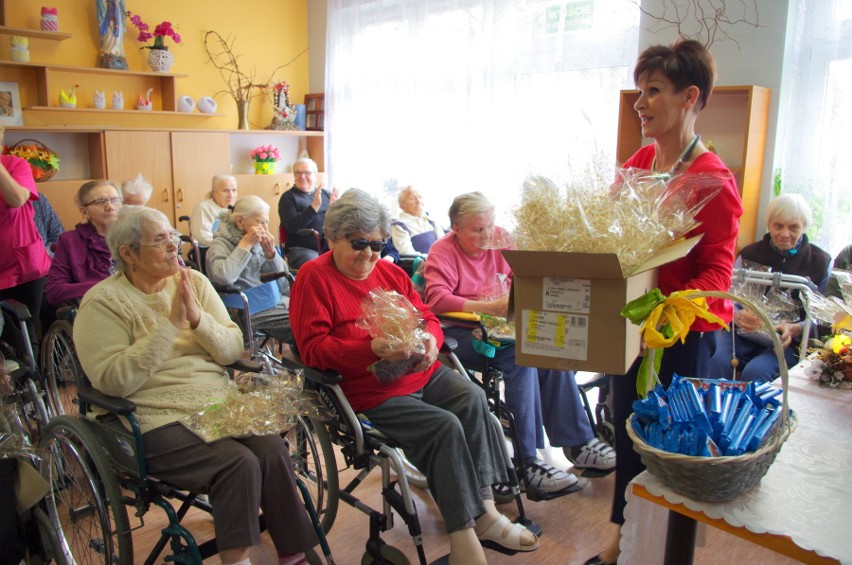
[[[410,373],[423,360],[428,332],[423,329],[420,312],[408,298],[394,290],[371,290],[362,309],[357,327],[366,330],[373,339],[384,339],[392,350],[404,349],[410,353],[402,361],[381,359],[370,365],[369,370],[379,383],[388,385]]]

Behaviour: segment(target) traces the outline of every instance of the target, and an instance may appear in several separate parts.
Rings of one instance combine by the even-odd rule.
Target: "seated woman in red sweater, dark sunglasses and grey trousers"
[[[338,371],[356,412],[397,443],[426,475],[450,533],[450,563],[485,563],[482,545],[532,551],[537,537],[512,524],[494,504],[492,485],[508,481],[506,461],[485,394],[443,366],[437,318],[399,267],[379,256],[390,233],[387,210],[371,195],[350,189],[328,210],[330,253],[305,263],[293,285],[290,316],[302,360]],[[374,289],[394,290],[422,314],[426,354],[411,372],[380,384],[368,367],[407,359],[381,338],[356,326],[362,301]]]

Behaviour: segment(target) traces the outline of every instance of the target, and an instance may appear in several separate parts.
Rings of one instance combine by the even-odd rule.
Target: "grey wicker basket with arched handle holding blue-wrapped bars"
[[[749,300],[733,296],[727,292],[695,291],[688,298],[713,297],[728,298],[747,306],[757,313],[766,327],[771,328],[772,322],[756,305]],[[772,335],[773,349],[778,358],[781,371],[782,411],[773,432],[763,445],[753,453],[743,453],[736,456],[701,457],[670,453],[648,445],[633,430],[633,414],[627,420],[627,434],[633,440],[633,449],[642,457],[648,471],[660,479],[673,491],[695,500],[724,501],[741,496],[754,487],[769,466],[775,461],[775,456],[781,446],[787,441],[790,433],[796,428],[796,418],[790,414],[787,404],[789,374],[784,361],[784,348],[775,332]],[[653,355],[653,350],[648,350]],[[650,359],[649,361],[653,361]],[[651,365],[653,366],[653,364]]]

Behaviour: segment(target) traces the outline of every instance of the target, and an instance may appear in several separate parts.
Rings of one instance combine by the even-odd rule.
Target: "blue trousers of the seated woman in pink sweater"
[[[458,340],[455,353],[465,366],[482,366],[484,357],[473,349],[475,338],[469,329],[446,328],[444,333]],[[594,437],[574,371],[516,365],[514,346],[498,350],[488,364],[503,372],[506,407],[515,418],[524,461],[534,459],[537,448],[544,448],[543,430],[556,447],[583,445]]]

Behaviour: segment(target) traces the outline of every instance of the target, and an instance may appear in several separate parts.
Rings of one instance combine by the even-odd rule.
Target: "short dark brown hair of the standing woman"
[[[704,45],[692,39],[684,39],[672,45],[648,47],[636,60],[634,84],[638,85],[640,78],[657,70],[672,81],[678,92],[697,86],[700,94],[696,111],[704,109],[716,82],[716,63]]]

